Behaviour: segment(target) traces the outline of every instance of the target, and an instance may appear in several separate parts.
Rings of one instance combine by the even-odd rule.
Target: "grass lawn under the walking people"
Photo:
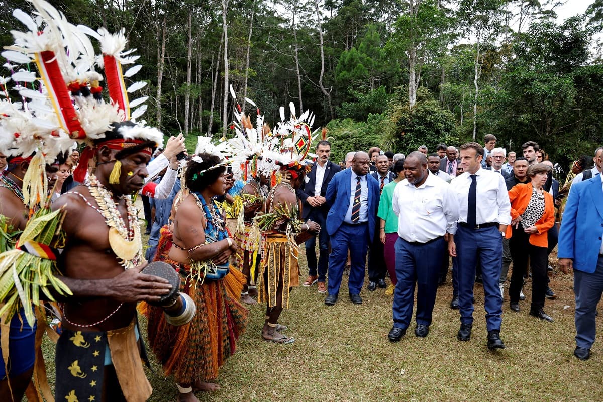
[[[306,274],[305,256],[300,266]],[[450,310],[450,278],[438,289],[431,331],[414,336],[414,322],[406,336],[390,344],[391,297],[384,289],[362,291],[364,303],[347,298],[347,277],[339,302],[324,305],[316,286],[294,289],[291,308],[280,322],[297,341],[276,345],[262,341],[265,307],[251,307],[247,331],[220,371],[221,390],[198,393],[201,401],[602,401],[603,328],[588,362],[573,357],[574,324],[572,278],[552,277],[558,298],[546,301],[555,322],[528,315],[531,285],[525,286],[521,313],[508,308],[505,293],[501,338],[507,348],[486,348],[482,287],[476,285],[475,322],[469,342],[456,340],[458,311]],[[563,309],[564,306],[570,306]],[[143,325],[145,325],[143,323]],[[146,328],[143,328],[146,333]],[[49,375],[54,381],[54,345],[44,345]],[[151,401],[175,401],[177,389],[153,361],[148,372]],[[52,384],[51,384],[52,385]],[[58,402],[58,401],[57,401]]]

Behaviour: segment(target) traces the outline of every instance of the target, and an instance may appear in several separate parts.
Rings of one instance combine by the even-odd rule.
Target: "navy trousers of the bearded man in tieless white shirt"
[[[435,295],[438,291],[441,261],[446,253],[444,237],[428,243],[396,241],[396,292],[394,292],[394,327],[408,328],[412,318],[414,289],[417,286],[417,324],[431,324]]]

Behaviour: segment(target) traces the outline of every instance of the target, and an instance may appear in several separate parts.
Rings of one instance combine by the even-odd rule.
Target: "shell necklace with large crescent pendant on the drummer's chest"
[[[139,265],[144,257],[142,256],[140,225],[132,202],[127,197],[121,197],[125,201],[128,212],[128,229],[119,213],[117,204],[113,201],[112,193],[98,182],[95,175],[90,175],[89,190],[105,218],[105,223],[109,226],[109,245],[118,257],[119,263],[125,269]]]

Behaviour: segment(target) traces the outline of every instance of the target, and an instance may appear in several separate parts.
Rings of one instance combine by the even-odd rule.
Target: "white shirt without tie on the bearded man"
[[[458,220],[458,201],[450,184],[431,172],[419,187],[400,181],[392,207],[398,215],[398,236],[407,242],[426,243],[444,236]]]

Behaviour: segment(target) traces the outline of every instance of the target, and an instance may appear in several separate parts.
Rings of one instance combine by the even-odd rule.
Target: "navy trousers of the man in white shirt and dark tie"
[[[470,229],[458,225],[454,237],[458,262],[458,303],[461,323],[473,324],[475,266],[481,262],[484,280],[484,308],[488,331],[500,331],[502,297],[499,278],[502,269],[502,237],[497,226]]]

